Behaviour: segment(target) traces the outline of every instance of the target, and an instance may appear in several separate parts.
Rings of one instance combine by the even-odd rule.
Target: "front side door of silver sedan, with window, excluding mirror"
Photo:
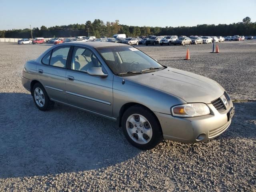
[[[66,96],[68,103],[113,116],[113,75],[107,77],[91,76],[87,70],[99,67],[107,74],[96,54],[88,48],[75,46],[70,69],[66,72]]]

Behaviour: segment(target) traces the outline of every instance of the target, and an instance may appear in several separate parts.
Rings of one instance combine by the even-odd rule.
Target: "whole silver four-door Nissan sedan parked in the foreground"
[[[162,139],[210,140],[230,126],[234,115],[230,97],[214,80],[162,66],[125,44],[52,46],[26,62],[22,84],[38,109],[60,102],[116,120],[140,149]]]

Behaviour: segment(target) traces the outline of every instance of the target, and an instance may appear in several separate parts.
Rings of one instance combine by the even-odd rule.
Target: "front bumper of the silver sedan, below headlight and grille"
[[[229,107],[222,112],[218,112],[212,104],[207,105],[211,114],[193,118],[180,118],[154,112],[161,124],[164,139],[182,143],[197,143],[222,134],[231,124],[231,119],[228,121],[227,114],[234,108],[232,101],[229,101]],[[203,135],[203,138],[199,138],[200,134]]]

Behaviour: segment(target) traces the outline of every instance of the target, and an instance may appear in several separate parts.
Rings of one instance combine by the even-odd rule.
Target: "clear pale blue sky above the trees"
[[[97,2],[97,3],[96,3]],[[132,26],[256,22],[256,0],[0,0],[0,30],[119,20]]]

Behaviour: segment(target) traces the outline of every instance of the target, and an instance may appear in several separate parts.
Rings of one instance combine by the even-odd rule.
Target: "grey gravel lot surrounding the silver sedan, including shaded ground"
[[[218,45],[219,54],[212,44],[137,46],[239,100],[230,128],[214,140],[142,151],[116,122],[62,104],[39,111],[20,78],[26,60],[49,45],[0,43],[0,191],[256,191],[256,102],[244,102],[256,100],[256,40]]]

